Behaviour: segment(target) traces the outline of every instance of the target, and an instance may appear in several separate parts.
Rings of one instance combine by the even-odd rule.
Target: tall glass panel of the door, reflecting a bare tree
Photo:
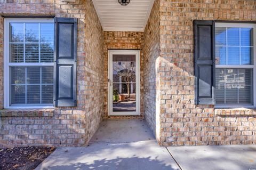
[[[135,55],[113,55],[113,112],[136,111]]]

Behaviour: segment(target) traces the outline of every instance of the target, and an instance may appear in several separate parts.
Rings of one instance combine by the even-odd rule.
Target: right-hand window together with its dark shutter
[[[256,106],[256,24],[194,21],[195,103]]]

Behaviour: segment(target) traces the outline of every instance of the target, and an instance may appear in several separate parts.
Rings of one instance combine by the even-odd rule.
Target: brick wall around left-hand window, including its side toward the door
[[[86,145],[103,113],[103,30],[91,0],[0,0],[2,15],[55,15],[78,18],[77,107],[53,110],[1,110],[0,147],[13,145]],[[3,74],[3,18],[0,18],[0,75]],[[0,106],[3,77],[0,76]]]

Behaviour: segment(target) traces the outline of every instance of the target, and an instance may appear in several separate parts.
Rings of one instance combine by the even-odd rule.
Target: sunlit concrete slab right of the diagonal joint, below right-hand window
[[[256,170],[256,145],[167,147],[183,170]]]

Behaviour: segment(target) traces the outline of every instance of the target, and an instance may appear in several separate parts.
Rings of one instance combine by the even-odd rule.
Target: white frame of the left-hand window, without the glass
[[[53,103],[49,106],[38,105],[29,106],[27,104],[20,104],[19,106],[10,106],[10,67],[11,66],[54,66],[54,63],[10,63],[9,61],[9,25],[10,22],[45,22],[54,23],[53,18],[5,18],[4,19],[4,108],[5,109],[46,109],[54,108]]]

